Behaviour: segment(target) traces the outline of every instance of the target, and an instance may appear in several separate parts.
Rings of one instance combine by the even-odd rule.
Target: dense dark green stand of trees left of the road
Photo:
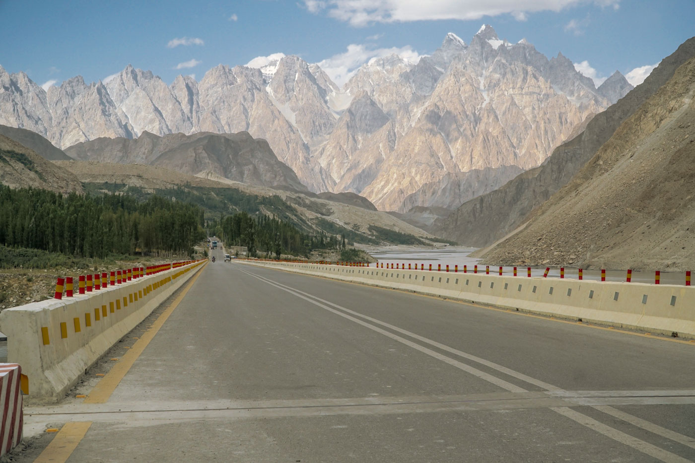
[[[63,196],[0,186],[0,245],[107,257],[169,251],[191,254],[205,238],[203,210],[152,196]]]

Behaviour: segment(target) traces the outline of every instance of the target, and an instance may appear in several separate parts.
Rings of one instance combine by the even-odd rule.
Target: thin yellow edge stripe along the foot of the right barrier
[[[247,265],[254,265],[254,264],[247,264]],[[369,286],[370,288],[386,289],[387,291],[398,291],[399,293],[418,295],[422,298],[447,300],[450,302],[456,302],[457,304],[470,305],[472,307],[477,307],[479,309],[496,310],[498,312],[505,312],[506,314],[523,315],[523,316],[527,316],[527,317],[541,318],[542,320],[548,320],[548,321],[553,321],[553,322],[558,322],[558,323],[569,323],[570,325],[583,326],[583,327],[587,327],[587,328],[594,328],[596,330],[611,330],[612,332],[615,332],[615,333],[631,334],[632,336],[640,336],[642,338],[649,338],[649,339],[658,339],[660,341],[669,341],[671,343],[681,343],[681,344],[687,344],[689,346],[694,346],[693,342],[695,342],[695,340],[694,341],[684,341],[682,339],[672,339],[672,338],[667,338],[665,336],[658,336],[656,334],[642,334],[642,333],[636,333],[636,332],[627,331],[627,330],[619,330],[619,329],[616,329],[614,327],[594,325],[591,322],[578,322],[577,320],[563,320],[561,318],[554,318],[554,316],[551,316],[551,315],[546,316],[546,315],[542,315],[542,314],[532,314],[532,313],[529,313],[527,311],[518,311],[518,310],[514,310],[514,309],[503,309],[502,307],[493,307],[491,305],[484,305],[484,304],[480,304],[478,302],[470,302],[470,301],[467,302],[466,300],[460,300],[460,299],[456,299],[456,298],[450,298],[450,297],[443,298],[443,296],[420,293],[419,291],[413,291],[411,289],[387,288],[386,286],[378,286],[376,284],[368,284],[368,283],[360,283],[360,282],[347,282],[344,279],[322,277],[319,275],[309,275],[307,273],[299,273],[299,272],[293,272],[292,270],[285,270],[284,268],[273,268],[273,267],[255,266],[255,265],[254,265],[254,267],[269,268],[270,270],[279,270],[281,272],[291,273],[293,275],[304,275],[305,277],[329,279],[332,282],[357,284],[359,286]],[[365,267],[365,268],[368,268],[368,267]],[[395,269],[393,269],[393,270],[395,270]],[[425,271],[427,271],[427,270],[425,270]],[[459,273],[459,275],[461,275],[461,273]],[[466,275],[466,274],[464,273],[464,275]]]

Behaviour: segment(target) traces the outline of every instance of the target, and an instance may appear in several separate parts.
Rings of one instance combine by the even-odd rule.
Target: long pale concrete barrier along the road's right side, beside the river
[[[695,339],[695,291],[692,286],[352,269],[308,263],[245,263]]]

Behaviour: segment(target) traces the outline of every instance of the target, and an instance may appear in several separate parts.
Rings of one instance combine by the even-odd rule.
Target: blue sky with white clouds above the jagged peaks
[[[448,32],[469,42],[483,23],[548,57],[562,51],[597,83],[614,70],[641,81],[695,35],[693,0],[0,0],[0,18],[0,65],[46,87],[129,63],[167,83],[199,80],[275,53],[322,63],[343,83],[373,56],[417,59]]]

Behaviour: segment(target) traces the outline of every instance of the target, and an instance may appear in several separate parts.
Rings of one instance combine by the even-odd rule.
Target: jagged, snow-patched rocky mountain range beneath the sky
[[[342,89],[297,56],[262,69],[219,65],[170,86],[128,66],[106,83],[77,76],[48,92],[0,67],[0,123],[63,149],[146,132],[248,131],[310,190],[351,191],[404,212],[457,206],[501,186],[508,178],[500,174],[469,176],[466,186],[460,174],[535,167],[628,90],[619,73],[596,89],[562,54],[548,60],[484,26],[470,44],[448,34],[418,63],[371,60]]]

